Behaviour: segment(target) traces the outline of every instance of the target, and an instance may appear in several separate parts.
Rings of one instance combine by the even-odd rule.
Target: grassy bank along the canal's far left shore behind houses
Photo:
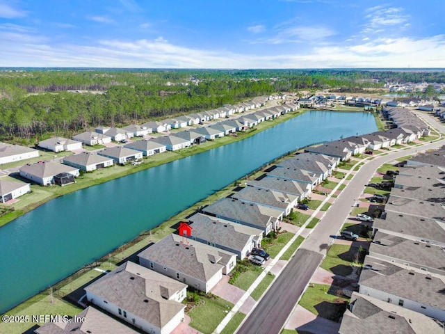
[[[227,145],[230,143],[235,143],[236,141],[242,141],[245,138],[253,136],[261,131],[269,129],[270,127],[275,127],[282,122],[286,122],[291,118],[294,118],[298,115],[301,115],[307,111],[307,109],[301,109],[296,112],[286,113],[285,115],[280,116],[275,120],[267,120],[265,122],[261,122],[257,127],[253,129],[248,129],[246,132],[238,132],[236,136],[224,136],[222,138],[218,138],[216,141],[207,141],[201,145],[193,145],[189,148],[184,148],[182,150],[178,150],[175,152],[164,152],[161,154],[154,154],[151,157],[147,157],[144,159],[144,163],[138,166],[112,166],[109,168],[104,168],[102,170],[96,170],[93,173],[84,173],[81,177],[76,178],[76,183],[70,184],[68,186],[40,186],[40,185],[31,185],[31,194],[24,195],[19,198],[17,202],[13,205],[1,205],[0,207],[12,207],[14,209],[10,214],[5,214],[0,217],[0,227],[13,221],[15,218],[26,214],[26,212],[30,212],[31,210],[39,207],[40,205],[48,202],[49,200],[53,200],[59,196],[63,196],[67,193],[72,193],[74,191],[78,191],[81,189],[88,188],[89,186],[95,186],[97,184],[102,184],[104,182],[117,179],[119,177],[124,177],[126,175],[130,175],[132,173],[137,173],[141,170],[145,170],[147,168],[156,167],[162,164],[167,164],[171,161],[175,161],[177,159],[182,159],[185,157],[189,157],[193,154],[197,154],[200,152],[204,152],[207,150],[211,150],[213,148],[218,148],[223,145]],[[68,155],[68,152],[61,152],[58,154],[54,154],[54,152],[43,152],[41,157],[35,158],[38,161],[42,159],[54,159],[54,157],[64,157]],[[31,161],[36,162],[36,161]],[[24,162],[20,161],[19,165],[22,165]],[[14,166],[3,165],[3,168],[17,167],[17,163],[13,163]],[[3,177],[3,180],[14,180],[14,177]],[[16,178],[16,180],[19,177]],[[20,179],[22,180],[22,179]],[[28,182],[26,180],[23,180]]]

